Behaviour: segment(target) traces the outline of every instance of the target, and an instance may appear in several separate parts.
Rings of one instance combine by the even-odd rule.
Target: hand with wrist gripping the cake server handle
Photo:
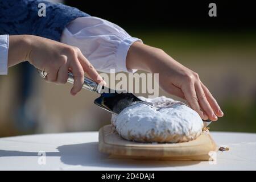
[[[56,84],[65,84],[68,80],[68,71],[71,71],[74,76],[74,84],[71,89],[73,96],[82,89],[85,72],[97,83],[103,81],[77,47],[39,36],[10,36],[9,67],[24,60],[28,60],[34,67],[46,71],[46,80]]]

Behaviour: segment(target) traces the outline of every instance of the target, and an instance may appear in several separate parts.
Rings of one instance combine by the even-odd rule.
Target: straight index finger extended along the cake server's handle
[[[86,57],[84,57],[84,55],[82,55],[81,52],[78,53],[78,59],[82,65],[82,68],[89,75],[89,77],[92,78],[92,80],[96,81],[98,84],[101,82],[106,84],[93,65],[90,64],[90,62],[86,59]]]

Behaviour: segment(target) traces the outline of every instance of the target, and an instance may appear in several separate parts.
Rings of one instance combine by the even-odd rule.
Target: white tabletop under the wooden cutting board
[[[0,170],[255,170],[256,134],[211,132],[215,162],[113,159],[98,151],[98,132],[0,138]]]

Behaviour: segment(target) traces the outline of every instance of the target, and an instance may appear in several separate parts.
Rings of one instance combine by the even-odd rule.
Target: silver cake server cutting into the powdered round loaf
[[[40,76],[46,78],[47,73],[45,71],[40,71],[38,69]],[[68,82],[73,84],[74,77],[71,72],[68,72]],[[133,102],[143,102],[144,104],[154,106],[150,102],[142,101],[138,97],[134,96],[132,93],[127,93],[126,91],[117,91],[110,88],[106,88],[104,85],[97,84],[97,82],[91,80],[88,77],[84,77],[84,85],[82,88],[90,90],[91,92],[96,92],[101,96],[94,100],[94,104],[101,107],[101,109],[107,110],[112,114],[119,114],[125,107],[130,106]],[[183,102],[177,102],[175,104],[184,104]],[[154,106],[158,107],[158,106]],[[162,108],[162,107],[159,107]],[[204,121],[204,126],[210,124],[210,120]]]

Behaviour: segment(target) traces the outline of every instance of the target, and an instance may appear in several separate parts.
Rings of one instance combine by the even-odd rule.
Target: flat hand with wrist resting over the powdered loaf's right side
[[[167,93],[188,101],[202,119],[216,121],[224,114],[199,75],[158,48],[135,42],[126,57],[128,69],[159,73],[159,85]]]

